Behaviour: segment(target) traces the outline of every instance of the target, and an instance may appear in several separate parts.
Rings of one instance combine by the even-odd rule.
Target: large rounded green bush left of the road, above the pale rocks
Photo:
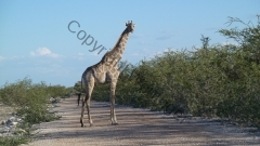
[[[30,79],[25,78],[16,83],[5,84],[0,91],[3,104],[12,106],[24,120],[31,124],[50,121],[47,104],[50,96],[55,95],[56,87],[47,87],[44,82],[32,84]]]

